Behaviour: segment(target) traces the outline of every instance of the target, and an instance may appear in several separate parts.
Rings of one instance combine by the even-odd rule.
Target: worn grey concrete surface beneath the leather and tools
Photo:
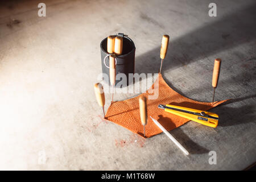
[[[39,2],[0,4],[0,169],[237,170],[256,161],[254,0],[214,1],[216,17],[208,0],[46,0],[46,17]],[[212,100],[213,61],[222,59],[216,100],[235,99],[211,110],[219,126],[191,121],[170,132],[191,155],[164,134],[142,139],[101,119],[100,42],[117,32],[134,40],[139,73],[158,71],[170,35],[163,77],[194,100]]]

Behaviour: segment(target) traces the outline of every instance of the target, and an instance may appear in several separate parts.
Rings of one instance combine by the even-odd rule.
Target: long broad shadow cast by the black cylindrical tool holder
[[[256,39],[255,9],[256,3],[174,40],[170,32],[170,46],[163,61],[163,73],[205,59],[225,49],[253,42]],[[160,46],[137,56],[135,72],[157,73],[161,62],[159,51]]]

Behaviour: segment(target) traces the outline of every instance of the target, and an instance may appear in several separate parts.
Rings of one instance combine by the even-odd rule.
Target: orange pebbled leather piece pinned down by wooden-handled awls
[[[216,107],[217,105],[222,104],[225,101],[228,101],[216,101],[213,103],[213,105],[212,102],[194,101],[187,97],[181,96],[179,93],[171,89],[170,86],[168,86],[167,83],[163,80],[161,74],[159,74],[157,79],[159,81],[158,98],[156,100],[147,100],[148,120],[146,125],[146,138],[150,138],[154,135],[162,133],[162,130],[160,130],[159,127],[155,125],[150,116],[156,119],[161,125],[163,125],[167,131],[173,130],[176,127],[179,127],[189,121],[189,119],[179,117],[175,114],[167,113],[164,111],[164,109],[159,109],[159,104],[172,104],[206,111],[212,107]],[[156,82],[157,80],[149,90],[154,89],[155,85],[157,86]],[[150,93],[152,93],[148,93],[149,90],[147,90],[146,93],[142,93],[141,95],[148,97]],[[154,93],[151,95],[153,94]],[[106,112],[105,119],[117,123],[118,125],[133,131],[133,133],[137,133],[141,135],[141,137],[144,137],[143,126],[141,124],[141,118],[139,115],[139,97],[141,95],[125,101],[112,102],[108,111]]]

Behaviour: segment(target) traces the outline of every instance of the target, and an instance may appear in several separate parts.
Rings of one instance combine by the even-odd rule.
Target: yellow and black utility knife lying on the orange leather
[[[175,105],[162,105],[158,106],[160,109],[164,109],[164,111],[179,115],[180,117],[190,119],[202,125],[217,127],[218,125],[218,114],[210,113],[203,110],[191,109],[188,107],[181,107]]]

